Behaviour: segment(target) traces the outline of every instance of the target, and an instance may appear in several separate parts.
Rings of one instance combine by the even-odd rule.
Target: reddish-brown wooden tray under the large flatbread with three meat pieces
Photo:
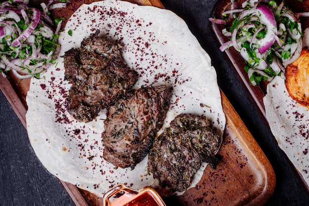
[[[82,3],[90,0],[74,1],[62,13],[74,12]],[[131,0],[140,5],[153,5],[163,8],[159,0]],[[37,1],[33,4],[36,5]],[[69,15],[70,14],[70,15]],[[9,101],[16,115],[26,128],[26,95],[29,90],[30,80],[19,82],[8,73],[7,78],[0,77],[0,89]],[[275,187],[274,171],[250,134],[240,117],[223,92],[222,105],[227,123],[223,136],[223,143],[218,155],[221,157],[216,169],[207,166],[203,178],[182,196],[164,198],[167,206],[195,205],[263,205]],[[102,197],[97,197],[75,185],[59,180],[77,206],[102,205]]]

